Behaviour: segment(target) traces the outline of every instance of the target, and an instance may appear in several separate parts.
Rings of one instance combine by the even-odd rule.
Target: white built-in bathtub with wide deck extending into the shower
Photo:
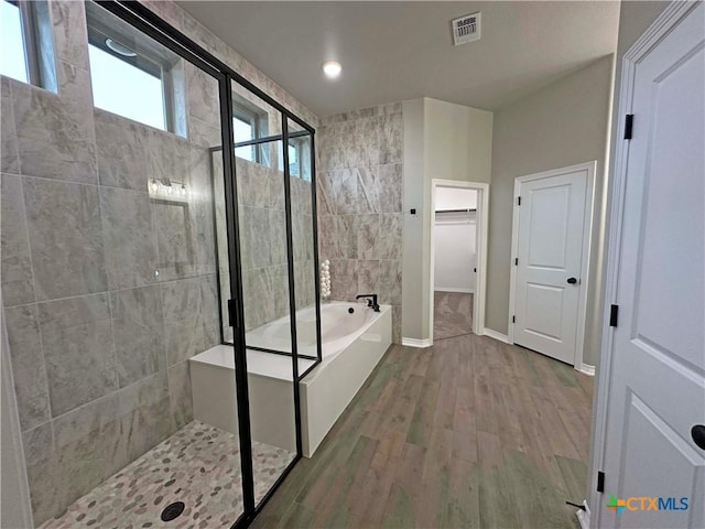
[[[352,313],[349,313],[352,309]],[[315,310],[296,313],[299,353],[316,356]],[[391,306],[321,305],[323,361],[300,382],[303,453],[311,457],[391,344]],[[291,352],[289,316],[247,333],[248,345]],[[247,350],[252,439],[295,451],[291,357]],[[299,373],[313,365],[300,358]],[[232,348],[189,360],[194,418],[237,434]]]

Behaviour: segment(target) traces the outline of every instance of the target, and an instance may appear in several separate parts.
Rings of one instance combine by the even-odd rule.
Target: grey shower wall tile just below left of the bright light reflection
[[[110,288],[154,283],[158,255],[149,195],[101,187],[100,206]]]

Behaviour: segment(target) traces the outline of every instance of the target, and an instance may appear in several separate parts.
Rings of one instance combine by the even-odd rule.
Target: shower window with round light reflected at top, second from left
[[[186,136],[181,57],[93,2],[86,20],[94,105]]]

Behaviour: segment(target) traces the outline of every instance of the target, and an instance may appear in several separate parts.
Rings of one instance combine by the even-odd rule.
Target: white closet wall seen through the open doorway
[[[437,187],[435,210],[476,209],[477,191]],[[475,292],[477,266],[477,214],[436,215],[433,227],[434,289],[446,292]]]

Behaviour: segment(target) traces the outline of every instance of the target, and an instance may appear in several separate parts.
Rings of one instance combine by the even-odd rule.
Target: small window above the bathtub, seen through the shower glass
[[[232,132],[236,145],[241,142],[265,138],[268,114],[257,105],[232,94]],[[235,155],[250,162],[269,165],[268,143],[235,148]]]

